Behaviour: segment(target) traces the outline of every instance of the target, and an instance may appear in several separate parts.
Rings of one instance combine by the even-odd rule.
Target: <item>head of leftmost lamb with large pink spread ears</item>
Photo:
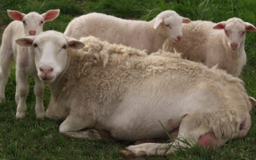
[[[26,36],[35,36],[43,31],[43,23],[52,21],[59,16],[59,10],[49,10],[43,14],[37,12],[23,14],[16,10],[8,10],[8,15],[14,20],[22,21]]]

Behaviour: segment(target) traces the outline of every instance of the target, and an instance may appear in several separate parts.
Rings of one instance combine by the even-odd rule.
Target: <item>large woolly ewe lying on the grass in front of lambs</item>
[[[86,47],[54,31],[16,41],[35,47],[37,74],[51,91],[46,116],[65,119],[61,133],[88,139],[101,139],[101,130],[122,140],[166,137],[161,122],[170,133],[178,130],[178,138],[210,147],[248,133],[252,104],[239,78],[179,54],[147,56],[93,37],[81,41]],[[177,141],[167,152],[168,144],[154,143],[121,152],[164,155],[175,152]]]

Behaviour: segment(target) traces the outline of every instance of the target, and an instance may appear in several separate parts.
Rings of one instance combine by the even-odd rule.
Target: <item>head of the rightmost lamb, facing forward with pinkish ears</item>
[[[256,31],[256,27],[242,19],[231,18],[228,21],[222,21],[213,26],[213,29],[224,30],[228,39],[228,47],[231,50],[237,50],[244,44],[246,31]]]

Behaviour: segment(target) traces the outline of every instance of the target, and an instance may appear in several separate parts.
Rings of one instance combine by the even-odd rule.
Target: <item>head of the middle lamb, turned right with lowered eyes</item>
[[[166,10],[157,15],[154,28],[158,30],[162,36],[179,42],[182,40],[182,23],[190,23],[190,19],[179,16],[179,14],[173,10]]]

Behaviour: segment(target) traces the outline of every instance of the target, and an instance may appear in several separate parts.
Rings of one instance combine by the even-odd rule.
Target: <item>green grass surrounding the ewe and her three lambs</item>
[[[44,25],[44,30],[63,32],[75,16],[88,12],[102,12],[124,19],[149,21],[163,10],[175,10],[191,20],[226,21],[237,16],[256,25],[255,0],[1,0],[0,30],[12,21],[6,10],[39,13],[47,10],[61,10],[59,17]],[[1,35],[0,35],[1,36]],[[246,83],[249,95],[256,98],[256,34],[246,34],[248,62],[240,78]],[[1,40],[1,39],[0,39]],[[0,41],[1,43],[1,41]],[[35,97],[32,93],[33,80],[29,78],[28,113],[25,119],[15,119],[16,104],[14,65],[6,87],[6,101],[0,104],[0,159],[122,159],[119,150],[132,141],[88,141],[61,135],[61,122],[35,119]],[[47,108],[50,98],[46,86],[44,104]],[[252,127],[242,139],[233,139],[221,148],[209,150],[196,146],[165,157],[146,159],[256,159],[256,109],[251,111]]]

